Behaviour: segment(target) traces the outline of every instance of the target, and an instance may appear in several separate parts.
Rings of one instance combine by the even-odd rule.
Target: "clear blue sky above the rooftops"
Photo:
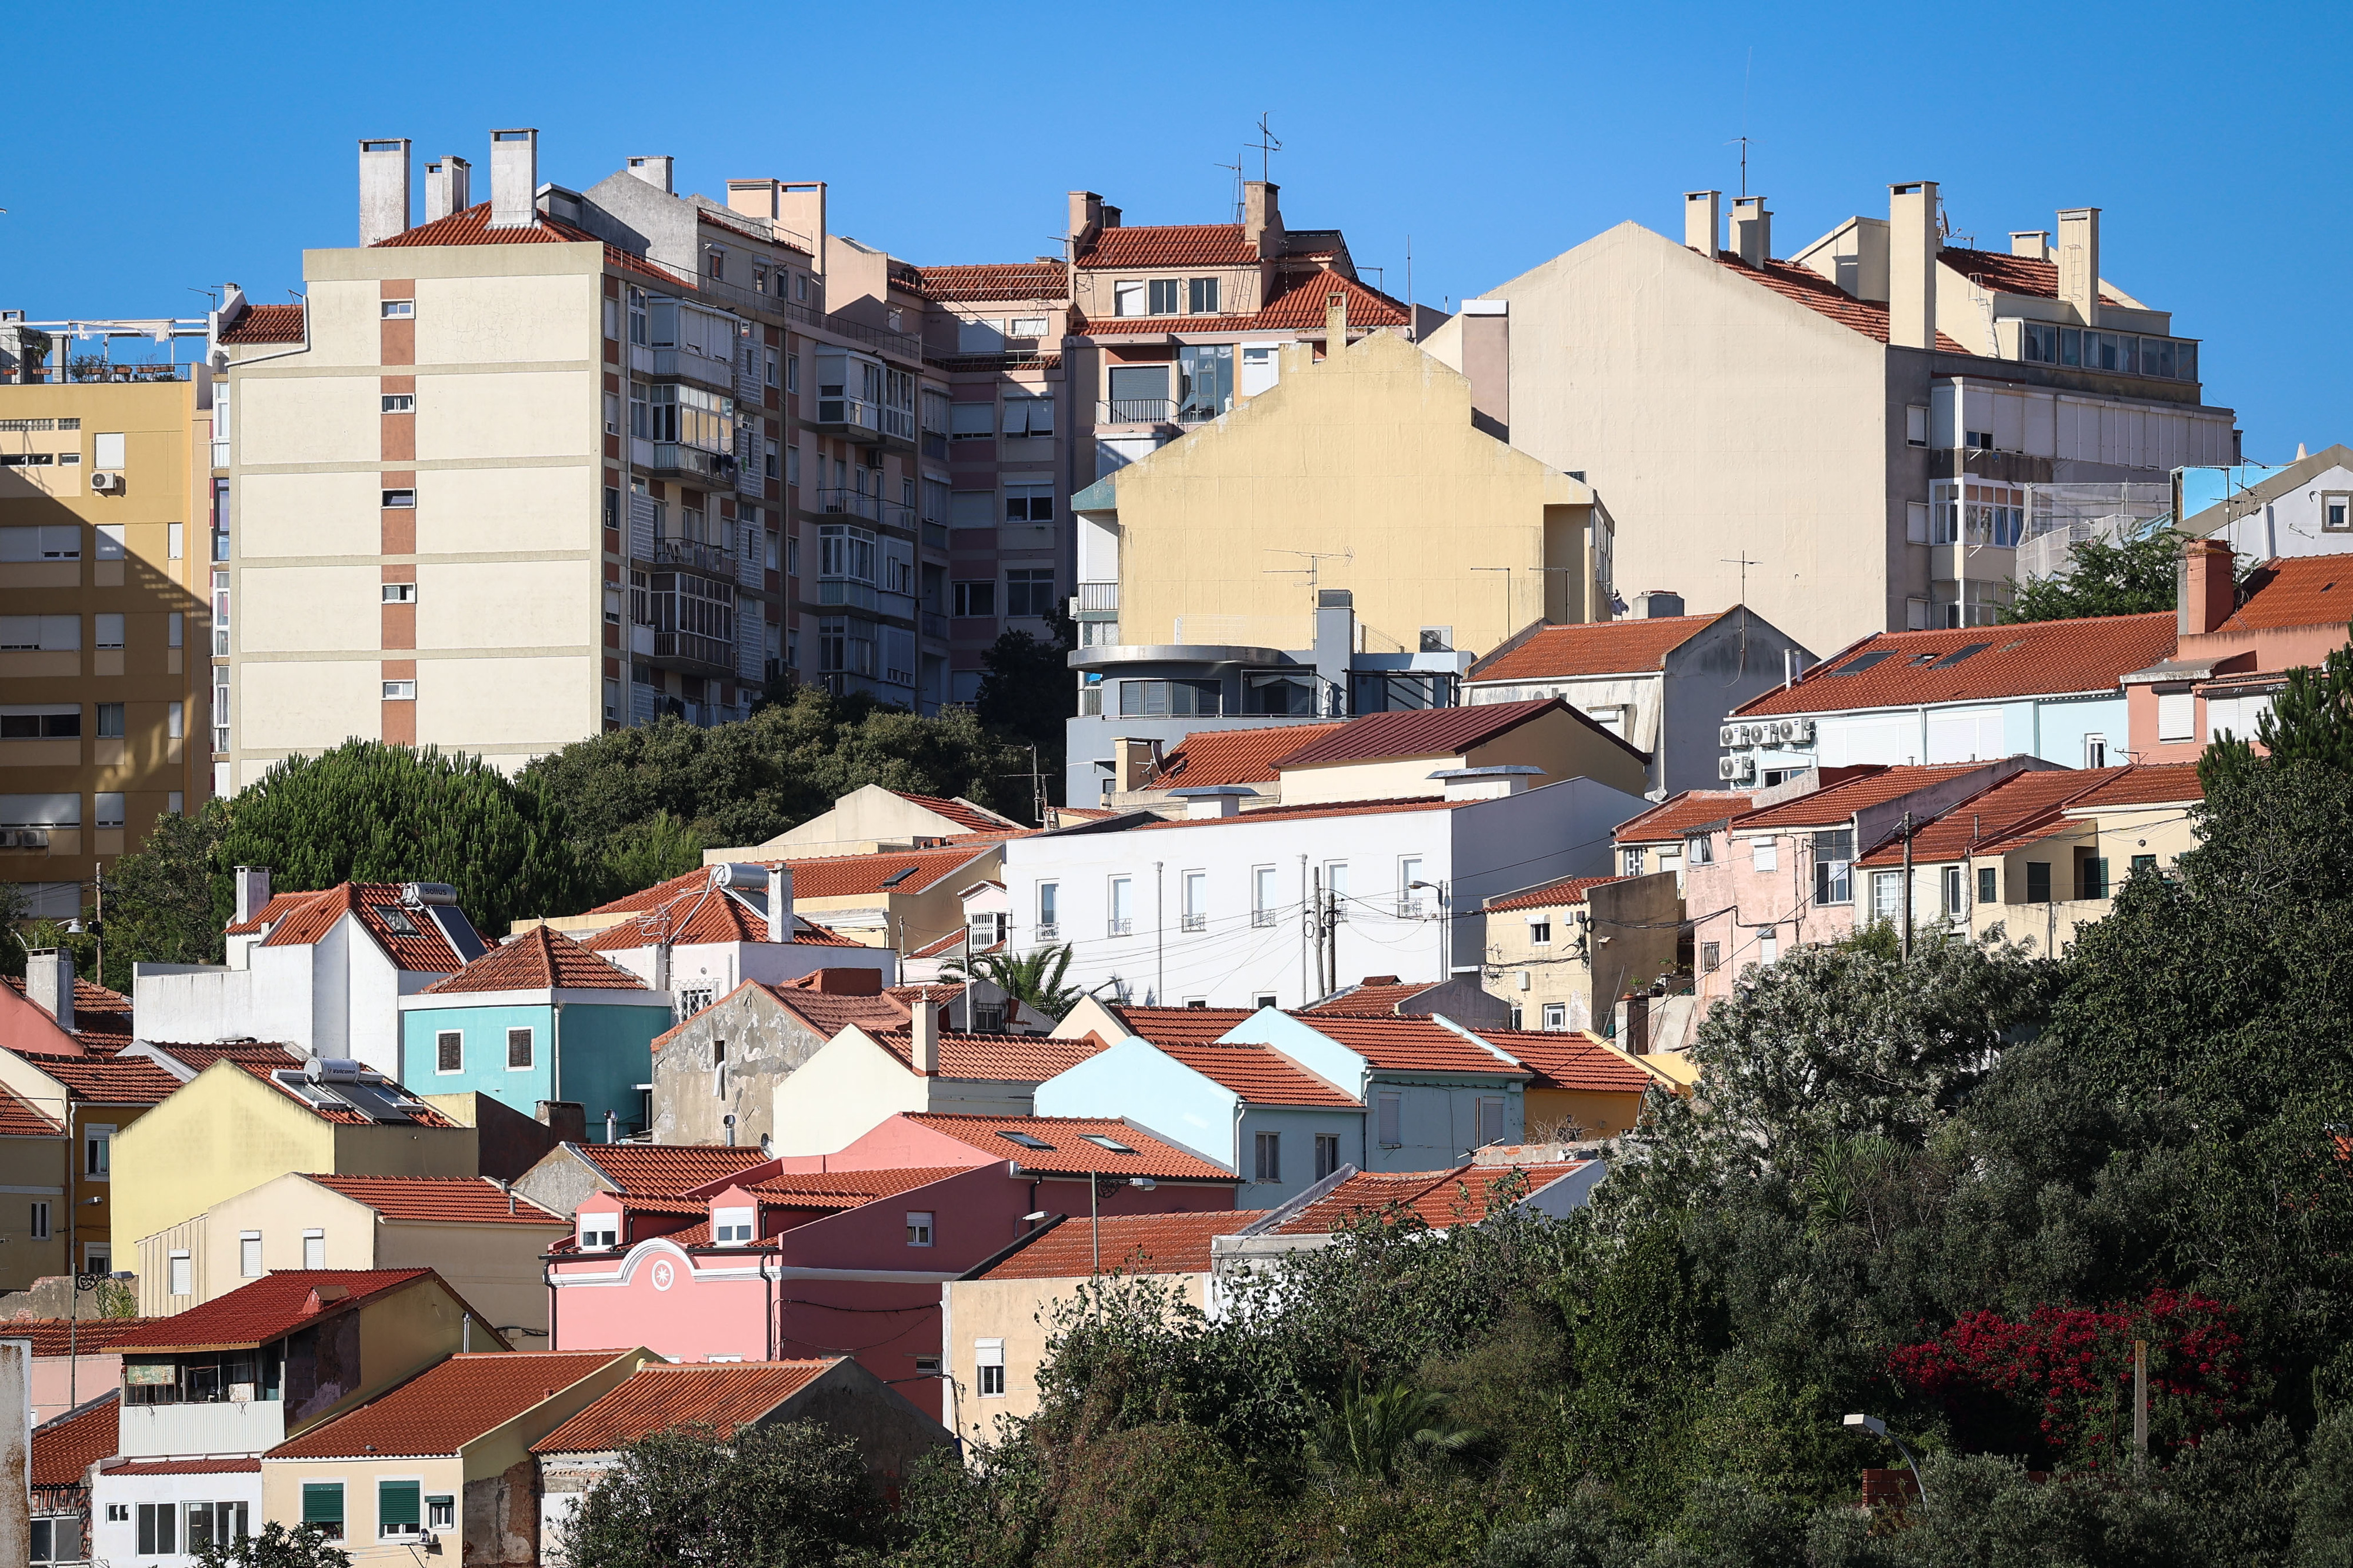
[[[355,238],[355,141],[487,181],[673,153],[680,186],[833,186],[833,228],[918,264],[1054,250],[1064,193],[1221,221],[1271,111],[1294,226],[1461,299],[1680,193],[1772,198],[1788,254],[1887,184],[1944,181],[1986,247],[2104,207],[2104,273],[2205,339],[2247,454],[2353,440],[2344,61],[2353,7],[1988,5],[64,5],[12,19],[0,304],[198,313]],[[1744,108],[1746,106],[1746,108]],[[1257,153],[1249,153],[1257,165]]]

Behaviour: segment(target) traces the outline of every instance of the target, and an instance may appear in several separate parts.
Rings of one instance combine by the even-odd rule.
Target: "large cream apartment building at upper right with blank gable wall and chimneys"
[[[1692,191],[1675,238],[1626,221],[1501,283],[1511,440],[1581,471],[1619,582],[1746,603],[1807,647],[1981,626],[2045,485],[2167,485],[2238,461],[2200,344],[2101,271],[2099,207],[2005,250],[1951,233],[1937,181],[1889,186],[1786,259],[1765,198]]]

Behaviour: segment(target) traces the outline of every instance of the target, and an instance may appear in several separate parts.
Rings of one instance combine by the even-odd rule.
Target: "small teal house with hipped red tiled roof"
[[[400,1081],[416,1095],[480,1090],[525,1116],[569,1099],[591,1137],[607,1116],[640,1132],[654,1036],[671,1022],[668,991],[539,925],[400,998]]]

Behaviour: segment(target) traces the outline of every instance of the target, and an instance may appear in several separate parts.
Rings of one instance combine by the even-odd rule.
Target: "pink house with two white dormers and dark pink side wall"
[[[1052,1215],[1231,1210],[1235,1177],[1125,1121],[892,1116],[680,1198],[581,1198],[548,1255],[553,1349],[852,1354],[934,1420],[941,1285]],[[624,1243],[624,1236],[635,1238]]]

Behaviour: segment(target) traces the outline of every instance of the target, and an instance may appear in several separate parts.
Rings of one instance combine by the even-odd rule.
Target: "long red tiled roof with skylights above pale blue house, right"
[[[2024,626],[1882,631],[1824,659],[1800,676],[1798,685],[1774,687],[1732,713],[1838,713],[1929,702],[2113,692],[2132,671],[2174,655],[2174,612],[2165,610]],[[1953,659],[1965,647],[1977,652]]]

